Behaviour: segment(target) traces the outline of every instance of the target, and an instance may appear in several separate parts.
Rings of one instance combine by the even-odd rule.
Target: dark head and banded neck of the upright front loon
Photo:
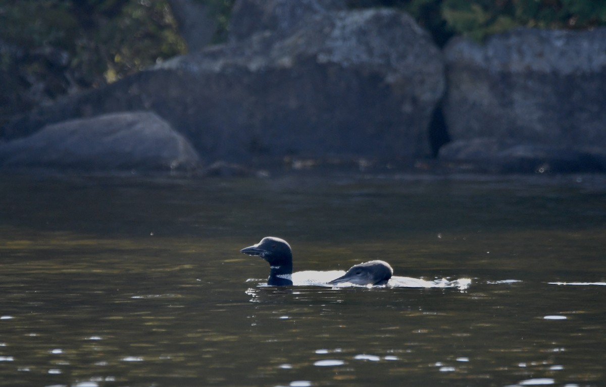
[[[258,256],[269,262],[270,273],[267,285],[284,286],[293,284],[293,252],[284,239],[264,237],[256,245],[243,248],[240,253]]]

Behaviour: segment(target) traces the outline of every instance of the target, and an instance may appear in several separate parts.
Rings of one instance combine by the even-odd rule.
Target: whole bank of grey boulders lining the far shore
[[[606,28],[520,28],[441,51],[405,13],[338,0],[239,0],[232,23],[225,44],[8,122],[0,165],[606,171]]]

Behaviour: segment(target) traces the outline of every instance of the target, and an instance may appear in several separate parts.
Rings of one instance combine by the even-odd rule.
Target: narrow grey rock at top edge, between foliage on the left
[[[168,0],[168,4],[190,52],[202,50],[210,44],[217,22],[208,12],[208,5],[194,0]]]

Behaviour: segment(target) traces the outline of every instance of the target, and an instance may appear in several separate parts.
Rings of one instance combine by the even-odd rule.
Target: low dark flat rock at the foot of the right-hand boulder
[[[440,149],[439,158],[442,162],[454,163],[459,170],[476,172],[606,172],[603,150],[575,150],[563,145],[519,144],[488,138],[453,141]]]

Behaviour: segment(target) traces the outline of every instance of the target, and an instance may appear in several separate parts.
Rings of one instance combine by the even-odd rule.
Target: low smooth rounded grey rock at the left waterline
[[[0,144],[4,167],[153,171],[197,164],[198,154],[189,142],[147,111],[59,122]]]

